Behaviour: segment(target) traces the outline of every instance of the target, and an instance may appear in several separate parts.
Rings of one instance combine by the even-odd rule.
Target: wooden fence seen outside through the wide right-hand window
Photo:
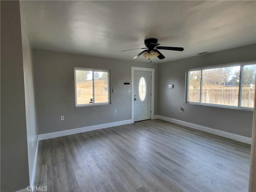
[[[202,103],[237,106],[238,91],[238,87],[203,88]],[[241,106],[254,107],[254,91],[254,88],[242,88]],[[200,102],[200,89],[190,88],[188,100],[191,102]]]

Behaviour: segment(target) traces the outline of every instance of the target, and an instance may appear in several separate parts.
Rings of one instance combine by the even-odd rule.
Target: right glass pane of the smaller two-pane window
[[[108,102],[108,72],[94,71],[94,99],[95,103]]]

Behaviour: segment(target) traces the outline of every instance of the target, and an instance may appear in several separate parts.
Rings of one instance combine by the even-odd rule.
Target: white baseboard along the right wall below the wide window
[[[198,124],[185,122],[185,121],[182,121],[182,120],[173,119],[173,118],[165,117],[165,116],[161,116],[161,115],[157,115],[157,118],[168,121],[168,122],[172,122],[172,123],[180,124],[180,125],[183,125],[183,126],[187,126],[187,127],[190,127],[190,128],[196,129],[196,130],[200,130],[200,131],[204,131],[204,132],[211,133],[211,134],[214,134],[214,135],[218,135],[218,136],[222,136],[222,137],[229,138],[229,139],[232,139],[232,140],[236,140],[236,141],[239,141],[239,142],[252,144],[252,138],[250,138],[250,137],[245,137],[245,136],[242,136],[242,135],[237,135],[237,134],[234,134],[234,133],[229,133],[229,132],[225,132],[225,131],[221,131],[221,130],[217,130],[217,129],[213,129],[213,128],[209,128],[209,127],[201,126],[201,125],[198,125]]]

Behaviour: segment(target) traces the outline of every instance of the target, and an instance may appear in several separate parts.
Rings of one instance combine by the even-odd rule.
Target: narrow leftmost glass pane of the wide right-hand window
[[[188,74],[188,101],[200,102],[201,70]]]

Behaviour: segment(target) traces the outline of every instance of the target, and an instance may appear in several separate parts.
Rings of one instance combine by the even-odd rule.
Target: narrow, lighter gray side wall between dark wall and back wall
[[[38,138],[37,119],[36,119],[36,103],[34,93],[34,77],[32,65],[32,48],[26,22],[20,10],[21,32],[22,32],[22,52],[23,52],[23,70],[24,70],[24,90],[25,90],[25,106],[26,106],[26,127],[28,142],[28,166],[30,183],[33,175],[33,167],[36,155],[36,144]],[[33,139],[33,146],[32,146]]]

